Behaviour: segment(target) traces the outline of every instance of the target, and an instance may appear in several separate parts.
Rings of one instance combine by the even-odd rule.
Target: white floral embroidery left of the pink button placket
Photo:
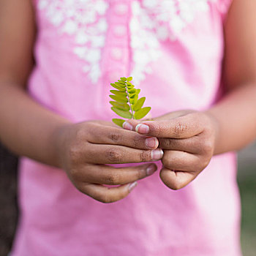
[[[61,34],[75,38],[74,53],[84,61],[83,72],[92,83],[101,75],[99,61],[105,45],[108,24],[104,0],[39,0],[39,9]]]

